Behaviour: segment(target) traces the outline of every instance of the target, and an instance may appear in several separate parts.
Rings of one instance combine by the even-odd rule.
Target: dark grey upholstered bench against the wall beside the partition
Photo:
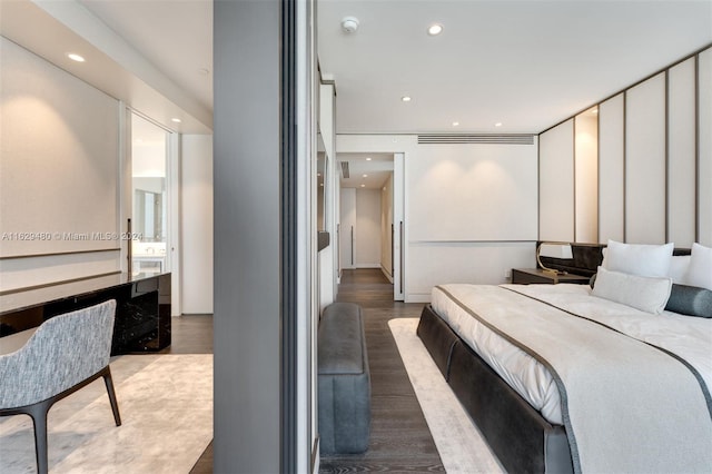
[[[320,452],[363,453],[370,431],[370,374],[360,307],[327,306],[317,340]]]

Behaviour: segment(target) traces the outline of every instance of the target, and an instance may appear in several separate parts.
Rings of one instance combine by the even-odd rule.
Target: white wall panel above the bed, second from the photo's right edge
[[[695,67],[691,58],[668,76],[668,240],[690,248],[695,216]]]

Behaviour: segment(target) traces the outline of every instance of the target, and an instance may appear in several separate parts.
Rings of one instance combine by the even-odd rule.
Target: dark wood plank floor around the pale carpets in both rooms
[[[422,304],[393,300],[393,285],[378,269],[344,270],[337,300],[360,305],[370,368],[370,442],[364,454],[322,457],[320,473],[444,472],[421,405],[388,328],[396,317],[419,317]],[[174,318],[172,354],[211,353],[212,318]],[[212,444],[190,471],[212,474]]]

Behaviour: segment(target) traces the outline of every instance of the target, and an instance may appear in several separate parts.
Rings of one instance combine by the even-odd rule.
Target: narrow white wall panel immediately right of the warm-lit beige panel
[[[599,106],[599,241],[625,239],[624,96]]]

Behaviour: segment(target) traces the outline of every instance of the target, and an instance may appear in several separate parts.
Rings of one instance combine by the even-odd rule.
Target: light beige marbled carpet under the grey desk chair
[[[50,472],[188,473],[212,440],[212,355],[125,355],[110,367],[121,426],[103,378],[56,403]],[[29,416],[0,418],[0,472],[36,472]]]

